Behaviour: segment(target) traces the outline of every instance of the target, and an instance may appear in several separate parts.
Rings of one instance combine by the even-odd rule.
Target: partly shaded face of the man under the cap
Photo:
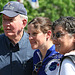
[[[13,18],[3,15],[2,19],[3,29],[6,36],[11,39],[20,34],[23,29],[23,22],[20,15]]]

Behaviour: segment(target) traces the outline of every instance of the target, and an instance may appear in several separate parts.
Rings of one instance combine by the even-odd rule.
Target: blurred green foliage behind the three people
[[[9,1],[16,0],[0,0],[0,11],[2,11],[3,6]],[[28,22],[37,17],[45,16],[49,17],[53,22],[60,16],[73,16],[75,17],[75,0],[38,0],[39,8],[33,9],[27,0],[24,0],[24,6],[28,14]],[[27,30],[27,26],[25,27]],[[0,16],[0,34],[3,33],[2,27],[2,16]]]

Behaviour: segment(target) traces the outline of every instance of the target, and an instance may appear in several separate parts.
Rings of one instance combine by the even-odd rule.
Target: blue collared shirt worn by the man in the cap
[[[5,34],[0,35],[0,75],[24,75],[23,63],[33,56],[28,34],[14,46]]]

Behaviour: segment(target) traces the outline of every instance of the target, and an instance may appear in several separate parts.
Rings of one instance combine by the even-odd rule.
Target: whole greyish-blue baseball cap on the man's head
[[[0,15],[1,14],[5,14],[9,17],[15,17],[19,14],[27,16],[27,11],[22,3],[10,1],[3,7],[3,11],[0,12]]]

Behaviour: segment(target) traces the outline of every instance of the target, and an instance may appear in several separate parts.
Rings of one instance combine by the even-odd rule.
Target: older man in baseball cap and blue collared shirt
[[[31,66],[27,63],[30,63],[33,50],[24,32],[27,11],[23,4],[10,1],[1,14],[4,34],[0,35],[0,75],[29,75]]]

